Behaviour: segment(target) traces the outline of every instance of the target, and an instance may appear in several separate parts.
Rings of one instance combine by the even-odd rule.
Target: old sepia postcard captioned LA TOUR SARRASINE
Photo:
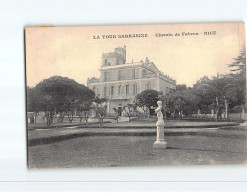
[[[245,24],[26,27],[29,168],[245,164]]]

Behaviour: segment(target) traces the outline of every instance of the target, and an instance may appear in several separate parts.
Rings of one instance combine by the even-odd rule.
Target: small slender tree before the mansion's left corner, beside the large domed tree
[[[106,116],[107,100],[105,98],[96,97],[93,102],[93,107],[99,120],[100,126],[103,126],[103,120]]]

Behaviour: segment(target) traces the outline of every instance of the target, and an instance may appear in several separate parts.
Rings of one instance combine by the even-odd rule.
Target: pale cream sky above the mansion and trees
[[[183,36],[183,32],[194,35]],[[147,37],[118,38],[126,34]],[[106,39],[105,35],[117,38]],[[30,87],[55,75],[86,85],[87,78],[100,76],[102,53],[124,45],[126,63],[148,57],[177,84],[193,86],[205,75],[229,73],[227,64],[240,54],[245,32],[244,23],[27,27],[25,41],[26,80]]]

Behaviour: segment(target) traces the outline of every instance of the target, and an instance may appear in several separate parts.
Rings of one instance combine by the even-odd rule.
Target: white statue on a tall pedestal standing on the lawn
[[[157,102],[158,107],[155,109],[155,113],[157,114],[158,121],[156,123],[157,126],[157,138],[153,143],[153,148],[166,148],[166,142],[164,139],[164,119],[162,114],[162,101]]]

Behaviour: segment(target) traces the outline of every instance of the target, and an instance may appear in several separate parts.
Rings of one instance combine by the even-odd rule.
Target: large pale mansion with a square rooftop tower
[[[108,113],[133,103],[135,96],[147,89],[166,94],[176,89],[176,81],[161,73],[153,62],[126,63],[126,47],[115,48],[114,52],[104,53],[100,68],[100,78],[91,78],[87,86],[100,97],[107,98]]]

